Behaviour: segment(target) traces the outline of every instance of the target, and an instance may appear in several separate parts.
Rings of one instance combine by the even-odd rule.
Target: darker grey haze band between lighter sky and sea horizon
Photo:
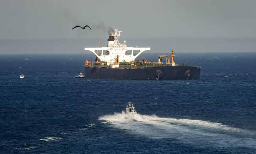
[[[0,40],[0,54],[87,53],[83,47],[107,44],[105,38]],[[122,38],[120,39],[122,42]],[[128,46],[149,47],[147,53],[256,52],[256,38],[127,38]]]

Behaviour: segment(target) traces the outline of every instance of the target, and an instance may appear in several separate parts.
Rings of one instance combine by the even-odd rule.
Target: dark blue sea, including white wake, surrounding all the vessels
[[[256,53],[176,53],[199,80],[74,78],[94,58],[0,55],[0,153],[256,153]]]

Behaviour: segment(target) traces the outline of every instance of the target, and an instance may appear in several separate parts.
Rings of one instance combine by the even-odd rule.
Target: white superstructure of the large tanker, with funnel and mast
[[[115,64],[115,59],[118,59],[118,62],[132,62],[142,52],[150,50],[150,48],[127,47],[126,41],[124,41],[123,44],[119,43],[117,38],[120,36],[120,32],[122,31],[118,31],[117,29],[115,29],[115,33],[112,33],[112,36],[109,36],[107,47],[84,48],[84,50],[91,51],[93,54],[96,55],[96,57],[98,57],[100,62],[107,62],[107,65]],[[101,54],[97,55],[95,51],[101,51]],[[134,55],[134,51],[139,51],[139,53],[137,53],[137,55]]]

